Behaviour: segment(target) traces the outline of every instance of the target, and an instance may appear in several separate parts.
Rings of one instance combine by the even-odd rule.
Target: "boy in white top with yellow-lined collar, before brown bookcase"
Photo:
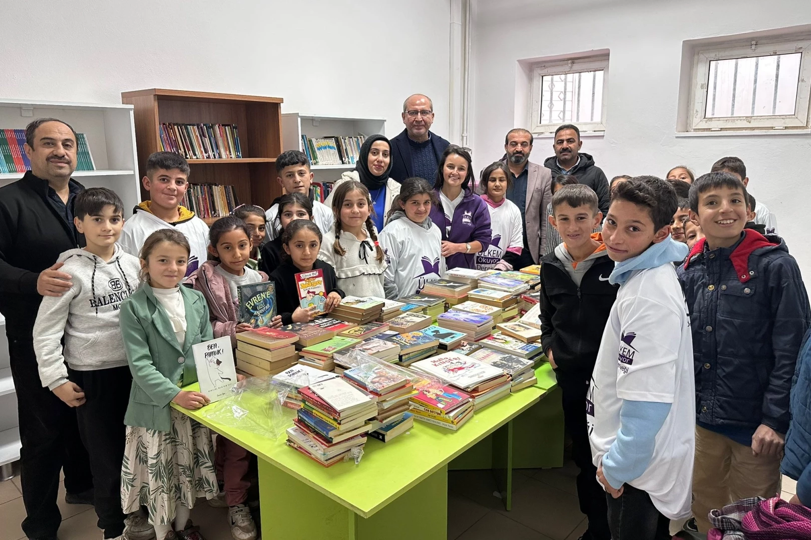
[[[135,206],[119,240],[124,251],[138,257],[144,240],[152,232],[178,229],[191,247],[187,276],[194,274],[208,260],[208,225],[180,204],[189,187],[190,170],[187,160],[174,152],[149,155],[146,176],[141,179],[144,189],[149,192],[149,200]]]

